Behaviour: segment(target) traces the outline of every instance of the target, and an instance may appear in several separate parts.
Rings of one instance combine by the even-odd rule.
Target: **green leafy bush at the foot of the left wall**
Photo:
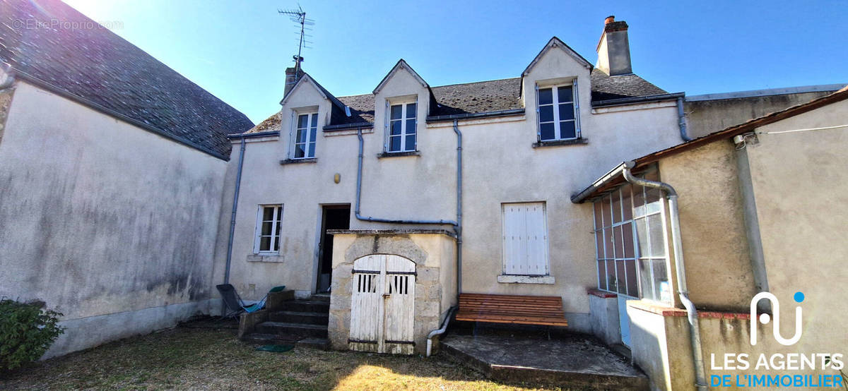
[[[64,333],[59,312],[43,310],[44,303],[0,300],[0,369],[11,370],[36,361]]]

